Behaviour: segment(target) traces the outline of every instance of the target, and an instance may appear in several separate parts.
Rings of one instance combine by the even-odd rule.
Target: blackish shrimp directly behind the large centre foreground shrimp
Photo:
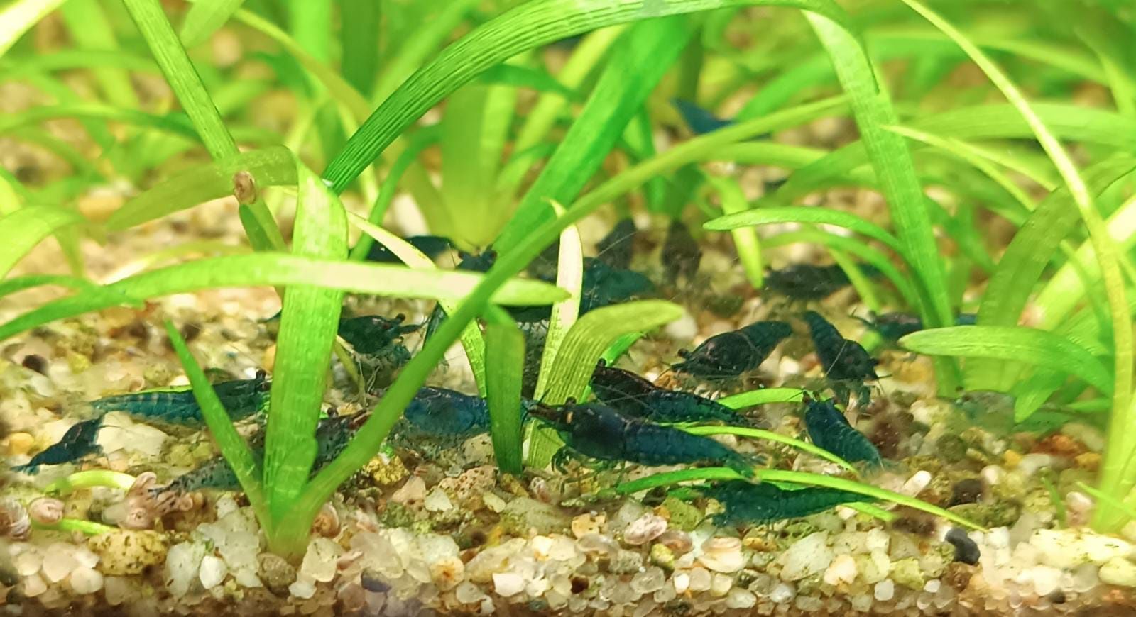
[[[642,377],[608,366],[602,360],[592,373],[595,398],[620,414],[651,422],[725,422],[740,426],[753,422],[729,407],[694,392],[667,390]]]

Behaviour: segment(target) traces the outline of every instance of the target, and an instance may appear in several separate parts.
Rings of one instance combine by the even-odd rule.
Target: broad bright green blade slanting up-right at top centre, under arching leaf
[[[494,246],[508,250],[551,218],[548,200],[568,203],[576,197],[692,34],[682,17],[635,24],[624,32],[584,109]]]

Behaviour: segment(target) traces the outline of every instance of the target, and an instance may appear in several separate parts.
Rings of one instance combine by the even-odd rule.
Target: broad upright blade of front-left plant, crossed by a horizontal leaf
[[[299,198],[292,253],[326,260],[346,257],[348,226],[343,204],[306,166],[296,166],[296,176]],[[343,291],[293,285],[287,287],[283,304],[268,402],[264,471],[268,508],[277,522],[289,516],[316,459],[316,424],[339,329]],[[295,553],[302,551],[303,546],[285,544],[279,549],[284,553]]]

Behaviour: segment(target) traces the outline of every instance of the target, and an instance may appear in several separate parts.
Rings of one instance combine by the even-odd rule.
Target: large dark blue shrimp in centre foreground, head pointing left
[[[671,426],[624,417],[611,407],[590,403],[556,409],[537,407],[534,415],[549,421],[565,440],[558,453],[600,460],[626,460],[641,465],[712,463],[726,465],[743,475],[753,475],[755,460],[708,437],[694,436]]]

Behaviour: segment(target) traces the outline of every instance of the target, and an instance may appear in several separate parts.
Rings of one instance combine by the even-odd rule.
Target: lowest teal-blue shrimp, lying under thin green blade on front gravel
[[[875,501],[855,492],[825,487],[783,489],[769,482],[754,484],[745,480],[719,482],[700,492],[726,507],[713,516],[716,525],[741,525],[799,518],[825,512],[841,504]]]

